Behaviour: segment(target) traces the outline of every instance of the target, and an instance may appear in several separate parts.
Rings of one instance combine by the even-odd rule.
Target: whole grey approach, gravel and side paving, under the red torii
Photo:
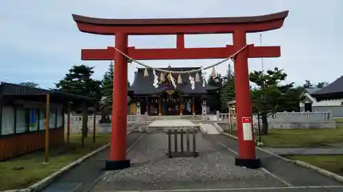
[[[141,135],[143,133],[131,133],[128,137],[128,145]],[[343,191],[343,184],[336,180],[258,149],[257,156],[268,172],[263,169],[236,167],[234,156],[238,152],[237,140],[225,135],[198,133],[197,141],[198,157],[167,159],[165,155],[167,136],[163,133],[146,133],[128,153],[132,167],[103,172],[102,167],[107,153],[105,151],[72,169],[44,192],[73,191],[72,188],[66,189],[70,185],[74,185],[73,189],[77,192],[88,190],[99,192],[161,190],[159,192],[162,192],[173,189],[178,192],[182,192],[182,189],[187,192],[204,189],[241,192]],[[99,180],[95,182],[97,178]],[[61,186],[64,190],[61,190]],[[331,188],[318,188],[323,186]]]

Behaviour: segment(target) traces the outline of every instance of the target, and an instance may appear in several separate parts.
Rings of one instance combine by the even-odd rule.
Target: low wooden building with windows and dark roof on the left
[[[49,122],[46,122],[49,94]],[[94,100],[12,83],[0,84],[0,161],[45,147],[45,125],[49,143],[64,143],[64,113],[67,106],[93,106]]]

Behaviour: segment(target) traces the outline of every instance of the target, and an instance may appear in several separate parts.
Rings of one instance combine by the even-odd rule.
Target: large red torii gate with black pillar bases
[[[107,19],[73,14],[78,29],[84,33],[115,36],[115,48],[132,59],[222,59],[246,46],[246,33],[279,29],[288,11],[263,16],[226,18]],[[216,48],[185,48],[185,34],[233,33],[233,45]],[[129,35],[175,35],[176,49],[135,49],[128,47]],[[82,49],[82,60],[115,60],[113,84],[112,133],[106,169],[130,167],[126,159],[128,58],[113,47]],[[251,122],[251,98],[248,58],[280,57],[280,46],[248,45],[235,56],[235,92],[239,156],[235,164],[260,167],[256,158]]]

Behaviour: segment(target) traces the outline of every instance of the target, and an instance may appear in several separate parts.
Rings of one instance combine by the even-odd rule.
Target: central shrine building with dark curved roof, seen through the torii
[[[197,68],[161,68],[168,71],[198,70]],[[138,68],[128,95],[132,98],[130,114],[200,115],[208,94],[220,87],[207,85],[202,72],[170,73],[151,68]]]

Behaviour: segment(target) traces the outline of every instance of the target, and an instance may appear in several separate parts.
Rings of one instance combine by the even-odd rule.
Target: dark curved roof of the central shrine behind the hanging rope
[[[176,70],[176,71],[185,71],[185,70],[194,70],[199,69],[199,67],[194,68],[163,68],[165,70]],[[191,89],[191,84],[189,82],[189,74],[181,74],[182,83],[178,84],[178,74],[172,74],[176,82],[176,88],[173,85],[167,83],[161,83],[158,87],[154,87],[154,73],[152,69],[147,69],[149,74],[148,77],[144,77],[145,68],[138,68],[137,72],[134,72],[134,81],[129,87],[129,91],[133,94],[158,94],[165,90],[176,90],[184,94],[204,94],[211,90],[217,90],[219,87],[213,87],[205,83],[205,87],[202,86],[204,79],[202,79],[202,73],[198,72],[200,77],[200,82],[195,83],[194,90]],[[158,79],[160,78],[160,72],[156,71]],[[196,78],[196,73],[191,74],[193,78]],[[167,75],[165,74],[165,78]]]

